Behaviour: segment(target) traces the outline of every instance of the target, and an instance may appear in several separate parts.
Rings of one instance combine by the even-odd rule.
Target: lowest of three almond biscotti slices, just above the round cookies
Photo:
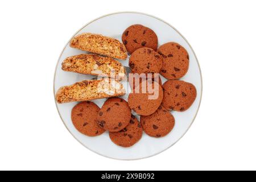
[[[84,80],[70,86],[61,87],[56,93],[59,104],[74,101],[89,101],[98,98],[123,96],[123,85],[112,78],[101,80]]]

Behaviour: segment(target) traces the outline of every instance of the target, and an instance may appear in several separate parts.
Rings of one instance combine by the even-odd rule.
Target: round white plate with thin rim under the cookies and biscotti
[[[71,110],[72,107],[77,104],[77,102],[68,104],[56,103],[57,110],[59,111],[64,125],[73,135],[73,137],[75,137],[81,144],[83,144],[89,150],[108,158],[126,160],[142,159],[159,154],[160,152],[171,147],[181,137],[183,137],[196,117],[200,106],[202,91],[201,72],[195,53],[188,44],[187,40],[185,40],[185,38],[177,30],[175,30],[174,27],[161,19],[142,13],[114,13],[93,20],[82,27],[81,30],[79,30],[75,35],[83,32],[93,32],[121,40],[122,32],[131,24],[143,24],[144,26],[154,30],[156,35],[158,35],[159,46],[167,42],[177,42],[187,49],[189,53],[189,69],[187,74],[181,78],[181,80],[191,82],[196,86],[197,97],[193,105],[187,111],[182,113],[176,111],[171,112],[175,117],[175,127],[171,133],[163,138],[153,138],[143,133],[142,139],[139,140],[138,143],[134,144],[134,146],[129,148],[119,147],[110,140],[108,132],[105,132],[98,137],[86,137],[75,129],[71,121]],[[57,89],[59,89],[61,86],[71,85],[77,81],[92,78],[92,76],[81,75],[79,73],[64,72],[61,69],[61,63],[65,57],[77,55],[79,53],[84,53],[84,51],[79,51],[69,47],[69,43],[64,47],[63,52],[61,52],[55,71],[53,85],[55,94]],[[127,66],[128,59],[121,61],[121,63]],[[162,79],[162,81],[164,82],[166,79]],[[105,99],[101,99],[94,100],[93,102],[101,107],[104,101]]]

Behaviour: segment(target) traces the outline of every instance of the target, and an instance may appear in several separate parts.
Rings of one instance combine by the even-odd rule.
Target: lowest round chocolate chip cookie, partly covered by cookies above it
[[[131,115],[129,125],[118,132],[110,132],[109,137],[118,146],[130,147],[141,139],[142,131],[141,123],[134,115]]]

